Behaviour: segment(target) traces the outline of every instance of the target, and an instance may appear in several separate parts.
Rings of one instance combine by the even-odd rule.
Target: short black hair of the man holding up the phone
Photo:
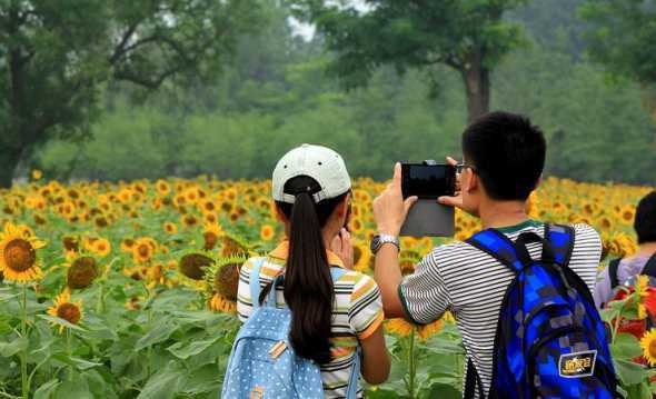
[[[545,168],[547,143],[528,118],[498,111],[465,129],[463,151],[491,199],[526,200]]]

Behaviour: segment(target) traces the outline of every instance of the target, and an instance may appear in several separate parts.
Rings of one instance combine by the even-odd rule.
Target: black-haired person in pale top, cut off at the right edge
[[[608,267],[602,272],[594,295],[595,305],[598,308],[613,299],[615,289],[613,286],[622,285],[635,276],[647,272],[646,266],[649,261],[656,267],[656,191],[647,194],[638,203],[634,229],[638,236],[638,251],[629,258],[616,261],[618,263],[615,269]],[[612,275],[616,278],[615,283],[613,283]]]

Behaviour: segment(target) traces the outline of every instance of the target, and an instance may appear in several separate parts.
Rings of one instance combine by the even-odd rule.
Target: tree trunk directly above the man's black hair
[[[467,94],[467,123],[489,111],[489,70],[483,66],[483,57],[473,53],[460,69]]]

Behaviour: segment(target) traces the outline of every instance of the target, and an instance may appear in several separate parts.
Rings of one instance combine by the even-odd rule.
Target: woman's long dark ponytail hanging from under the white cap
[[[284,191],[295,203],[276,201],[289,220],[289,256],[285,271],[285,302],[291,310],[289,340],[298,356],[319,365],[329,362],[335,292],[321,229],[347,193],[315,203],[320,191],[317,181],[298,176],[285,183]],[[260,303],[270,286],[260,293]]]

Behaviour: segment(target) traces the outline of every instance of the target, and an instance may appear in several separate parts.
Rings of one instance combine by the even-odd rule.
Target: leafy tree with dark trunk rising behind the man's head
[[[367,10],[322,0],[297,0],[337,53],[330,71],[347,88],[365,84],[381,64],[430,71],[438,63],[459,72],[468,120],[489,109],[490,71],[523,41],[504,12],[525,0],[368,0]],[[435,90],[439,82],[431,79]]]

